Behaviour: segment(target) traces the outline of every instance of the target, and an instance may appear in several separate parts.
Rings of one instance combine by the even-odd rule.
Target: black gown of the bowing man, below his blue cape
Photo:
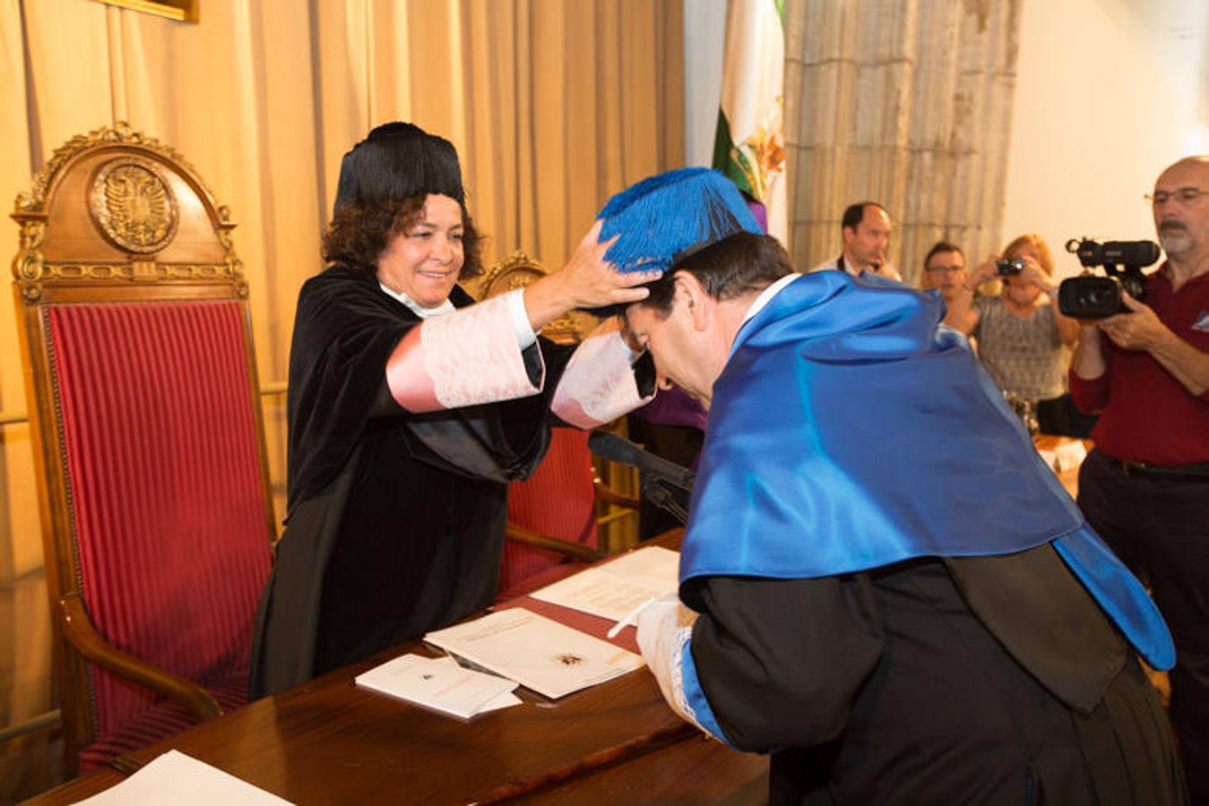
[[[1049,545],[821,579],[711,576],[690,644],[774,804],[1182,804],[1167,718]]]

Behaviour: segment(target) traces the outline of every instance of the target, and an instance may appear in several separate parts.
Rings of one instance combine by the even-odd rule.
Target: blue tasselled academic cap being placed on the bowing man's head
[[[667,269],[739,232],[763,234],[735,184],[710,168],[643,179],[604,204],[601,242],[620,233],[604,259],[619,272]]]

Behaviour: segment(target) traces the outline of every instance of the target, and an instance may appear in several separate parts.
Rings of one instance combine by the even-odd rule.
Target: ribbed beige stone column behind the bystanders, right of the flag
[[[791,243],[840,250],[840,215],[873,199],[890,260],[916,282],[941,238],[999,249],[1022,0],[786,4]]]

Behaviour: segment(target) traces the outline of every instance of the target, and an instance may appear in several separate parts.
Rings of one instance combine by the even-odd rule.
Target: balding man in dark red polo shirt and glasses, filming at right
[[[1209,156],[1164,170],[1151,197],[1167,262],[1145,303],[1083,320],[1070,388],[1099,411],[1078,505],[1149,579],[1170,625],[1170,717],[1192,802],[1209,804]]]

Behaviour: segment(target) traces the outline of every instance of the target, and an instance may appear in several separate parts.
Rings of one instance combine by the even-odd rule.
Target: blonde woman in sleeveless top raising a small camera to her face
[[[970,273],[945,323],[973,336],[995,385],[1032,410],[1041,431],[1071,434],[1077,424],[1071,423],[1074,406],[1065,396],[1066,359],[1078,323],[1059,313],[1052,276],[1046,242],[1023,234],[1007,244],[1002,257],[990,255]],[[973,295],[996,277],[1002,280],[999,296]]]

